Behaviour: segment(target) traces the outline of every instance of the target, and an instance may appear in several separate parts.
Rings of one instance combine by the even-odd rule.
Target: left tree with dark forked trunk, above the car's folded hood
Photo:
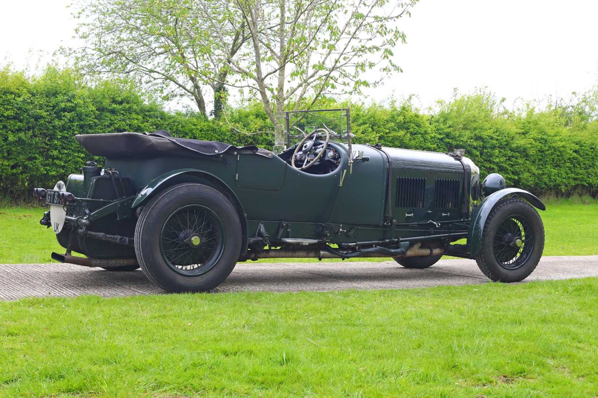
[[[194,0],[81,0],[78,5],[76,32],[85,45],[66,50],[78,66],[131,76],[164,99],[189,97],[204,115],[209,87],[219,117],[228,60],[247,40],[245,22],[230,17],[226,0],[201,7]]]

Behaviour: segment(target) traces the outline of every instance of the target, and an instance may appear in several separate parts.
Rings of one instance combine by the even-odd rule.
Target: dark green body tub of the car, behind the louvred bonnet
[[[341,152],[341,166],[323,175],[301,172],[279,157],[256,154],[237,156],[227,153],[217,157],[218,160],[106,160],[106,167],[119,170],[123,177],[130,177],[136,186],[142,187],[133,207],[145,203],[163,187],[199,181],[199,174],[204,174],[233,192],[248,220],[380,225],[385,182],[385,173],[380,172],[384,170],[381,155],[364,145],[363,150],[371,160],[353,164],[353,173],[346,173],[343,187],[340,187],[341,174],[348,170],[348,154],[343,145],[331,145]],[[246,160],[246,157],[250,159]]]

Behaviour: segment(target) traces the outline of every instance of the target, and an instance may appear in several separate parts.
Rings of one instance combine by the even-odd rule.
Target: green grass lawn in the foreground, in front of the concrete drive
[[[0,396],[598,395],[598,278],[0,302]]]

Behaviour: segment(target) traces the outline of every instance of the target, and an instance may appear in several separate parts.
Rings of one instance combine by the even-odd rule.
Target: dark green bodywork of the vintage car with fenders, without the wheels
[[[112,137],[119,146],[142,135],[127,134],[137,133],[98,139]],[[105,161],[101,168],[89,163],[66,180],[73,199],[64,203],[66,219],[57,238],[67,257],[53,255],[61,261],[72,261],[71,250],[99,266],[134,261],[135,229],[144,207],[165,189],[185,183],[209,186],[234,206],[242,229],[239,261],[408,253],[476,258],[487,219],[501,201],[517,196],[545,209],[530,192],[506,188],[498,174],[481,183],[478,167],[460,152],[330,141],[335,166],[314,174],[291,166],[294,146],[280,155],[234,146],[211,154],[183,149],[142,155],[135,148],[86,148]],[[39,192],[36,196],[42,201]],[[49,212],[41,224],[51,225]]]

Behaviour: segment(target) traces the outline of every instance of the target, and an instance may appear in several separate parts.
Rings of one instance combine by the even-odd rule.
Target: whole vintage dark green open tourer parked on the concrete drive
[[[535,195],[499,174],[480,183],[461,149],[352,143],[349,109],[321,114],[330,112],[339,116],[328,123],[318,111],[285,112],[289,148],[278,154],[165,131],[76,136],[105,160],[33,190],[50,206],[41,224],[66,248],[52,258],[141,267],[169,292],[213,289],[237,262],[261,258],[387,257],[426,268],[449,255],[475,259],[493,281],[532,273],[544,249]]]

